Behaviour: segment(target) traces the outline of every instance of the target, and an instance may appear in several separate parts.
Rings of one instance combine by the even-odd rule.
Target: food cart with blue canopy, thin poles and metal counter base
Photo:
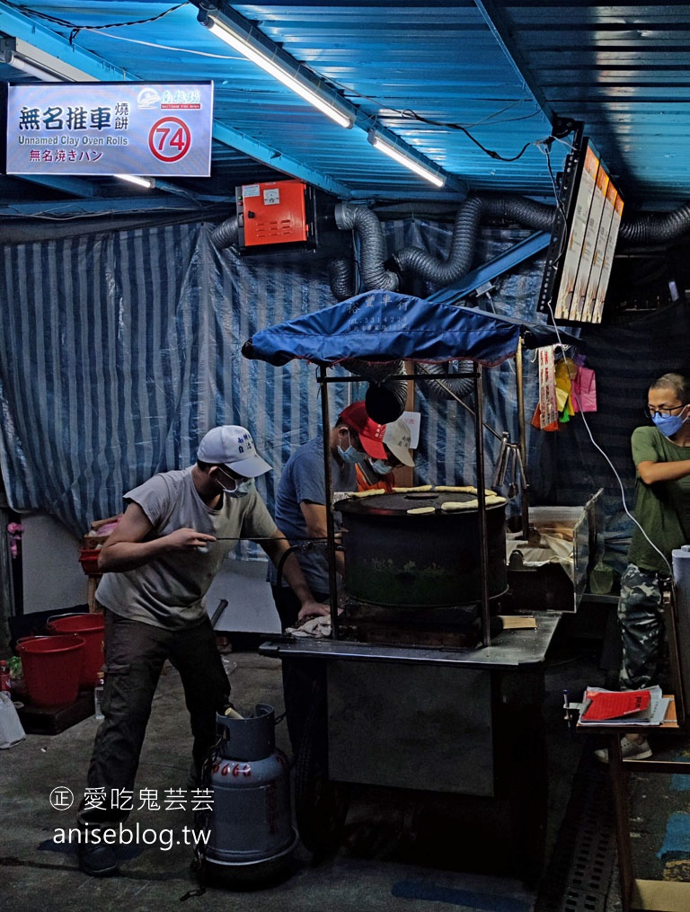
[[[469,377],[473,383],[476,474],[483,479],[482,370],[516,359],[523,437],[521,348],[556,341],[541,324],[375,291],[263,329],[245,343],[242,354],[276,367],[293,358],[318,366],[330,488],[330,383],[370,378],[371,365],[380,378],[386,364],[398,376],[399,365],[406,365],[402,376],[419,382],[427,378],[426,365],[452,363],[451,377]],[[336,364],[353,376],[329,376]],[[483,485],[478,482],[477,488],[480,635],[472,648],[361,642],[352,628],[340,626],[332,514],[327,543],[332,637],[273,637],[260,648],[283,662],[297,754],[297,824],[314,853],[337,845],[348,787],[359,783],[407,795],[469,795],[501,803],[517,872],[529,881],[541,871],[548,793],[541,720],[544,658],[561,616],[542,613],[536,630],[504,631],[492,641],[487,506]]]

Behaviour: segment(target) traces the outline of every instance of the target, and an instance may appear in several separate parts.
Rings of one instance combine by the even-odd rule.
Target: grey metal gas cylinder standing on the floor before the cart
[[[216,713],[218,741],[205,764],[212,811],[198,821],[207,874],[273,879],[283,874],[299,840],[293,826],[290,770],[275,747],[275,715],[266,703],[242,718]]]

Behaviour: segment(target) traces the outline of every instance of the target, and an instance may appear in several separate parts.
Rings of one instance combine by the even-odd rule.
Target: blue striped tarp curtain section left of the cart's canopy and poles
[[[81,535],[132,486],[194,461],[215,424],[248,426],[276,467],[314,435],[311,369],[276,372],[240,349],[267,321],[331,303],[322,271],[240,263],[212,227],[3,247],[0,468],[13,510]],[[273,473],[260,483],[271,500]]]

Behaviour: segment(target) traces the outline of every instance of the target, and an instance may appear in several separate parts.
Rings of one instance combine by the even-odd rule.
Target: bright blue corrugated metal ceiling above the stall
[[[582,121],[629,205],[674,208],[687,195],[686,5],[219,0],[221,14],[241,16],[344,98],[350,130],[211,34],[198,21],[201,5],[211,3],[5,0],[0,79],[36,78],[11,65],[19,42],[29,59],[67,62],[99,80],[213,80],[211,177],[160,187],[160,205],[225,202],[237,185],[286,174],[351,200],[452,204],[471,191],[551,200],[568,149],[567,137],[544,141],[554,118]],[[374,149],[372,127],[442,170],[446,186],[434,189]],[[0,179],[2,206],[46,199],[128,208],[141,194],[108,179]]]

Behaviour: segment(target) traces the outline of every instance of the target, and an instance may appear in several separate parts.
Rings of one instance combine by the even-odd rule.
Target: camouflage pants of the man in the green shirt
[[[658,575],[629,564],[621,577],[618,602],[623,658],[619,674],[622,690],[658,684],[664,652],[664,611]]]

